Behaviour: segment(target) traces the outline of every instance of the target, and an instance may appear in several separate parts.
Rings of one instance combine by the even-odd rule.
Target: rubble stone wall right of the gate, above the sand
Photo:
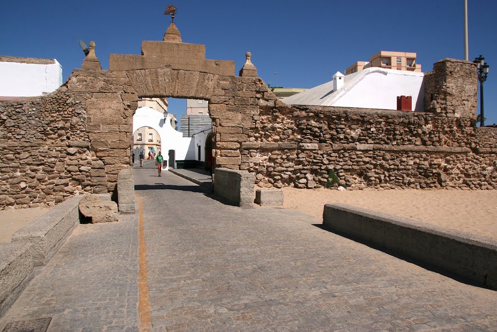
[[[262,111],[242,169],[259,186],[497,188],[496,150],[471,119],[428,112],[294,106]],[[470,147],[473,147],[471,149]]]

